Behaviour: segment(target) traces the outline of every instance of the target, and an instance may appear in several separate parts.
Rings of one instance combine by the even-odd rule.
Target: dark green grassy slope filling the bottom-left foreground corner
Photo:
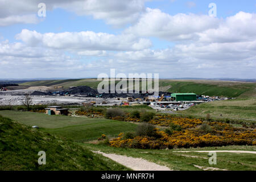
[[[73,142],[0,116],[0,170],[127,170]],[[38,152],[46,152],[46,165]]]

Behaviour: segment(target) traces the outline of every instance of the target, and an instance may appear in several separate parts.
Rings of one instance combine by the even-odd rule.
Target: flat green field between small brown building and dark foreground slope
[[[101,137],[101,134],[119,134],[125,131],[134,131],[137,127],[134,123],[104,118],[78,118],[8,110],[0,111],[0,114],[28,126],[43,127],[51,134],[72,140]]]

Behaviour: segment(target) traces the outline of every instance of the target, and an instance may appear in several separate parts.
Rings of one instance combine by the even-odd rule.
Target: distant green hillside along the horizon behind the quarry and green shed
[[[28,86],[90,86],[97,89],[100,83],[96,78],[44,80],[24,82]],[[172,93],[196,93],[208,96],[256,97],[256,83],[221,80],[159,80],[159,90]]]

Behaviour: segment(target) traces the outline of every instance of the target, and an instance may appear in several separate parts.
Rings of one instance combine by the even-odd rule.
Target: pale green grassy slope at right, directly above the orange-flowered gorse
[[[256,119],[256,97],[207,102],[184,111],[178,111],[178,113],[202,116],[209,113],[212,117],[220,117],[220,114],[222,114],[222,117],[226,118]]]

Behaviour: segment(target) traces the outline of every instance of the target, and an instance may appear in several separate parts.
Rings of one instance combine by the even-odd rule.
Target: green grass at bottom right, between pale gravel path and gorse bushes
[[[174,170],[200,170],[193,166],[214,167],[228,170],[255,170],[256,155],[255,154],[236,154],[236,153],[217,153],[217,164],[210,165],[208,163],[208,153],[179,153],[179,150],[146,150],[136,148],[115,148],[104,145],[83,143],[82,146],[90,148],[90,150],[100,150],[106,153],[115,153],[120,155],[132,156],[134,158],[143,158],[154,163],[162,164]],[[227,147],[205,147],[205,148],[189,148],[183,150],[248,150],[255,151],[255,146],[227,146]],[[187,155],[187,156],[182,156]],[[197,156],[192,158],[188,156]],[[203,159],[207,158],[207,159]]]

